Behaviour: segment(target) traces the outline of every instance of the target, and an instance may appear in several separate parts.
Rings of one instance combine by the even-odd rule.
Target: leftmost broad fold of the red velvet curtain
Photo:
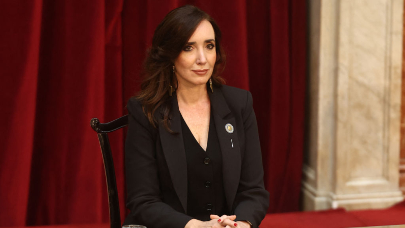
[[[0,36],[0,225],[23,225],[24,219],[20,218],[28,213],[41,5],[41,1],[31,1],[24,7],[17,2],[0,3],[2,9],[14,9],[0,14],[0,29],[4,31]]]

